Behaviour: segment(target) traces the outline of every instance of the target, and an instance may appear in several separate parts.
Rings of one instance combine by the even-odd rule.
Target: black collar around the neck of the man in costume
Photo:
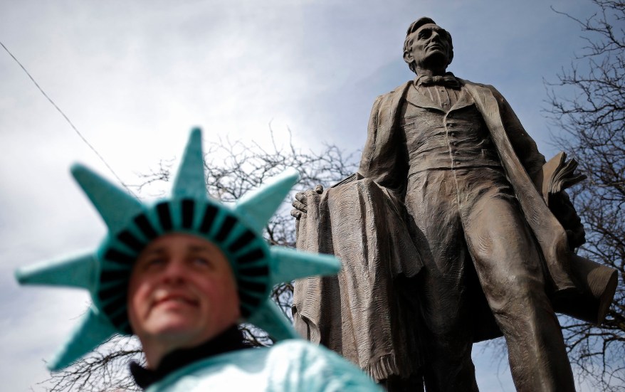
[[[176,371],[192,362],[249,347],[251,346],[243,339],[243,332],[239,331],[238,327],[234,325],[204,344],[191,349],[172,351],[163,357],[157,369],[146,369],[136,361],[132,361],[130,362],[130,374],[132,374],[132,378],[135,378],[135,383],[145,389],[152,383],[162,380],[172,371]]]

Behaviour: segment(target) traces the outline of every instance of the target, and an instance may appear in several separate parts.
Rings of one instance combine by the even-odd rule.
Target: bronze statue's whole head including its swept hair
[[[404,61],[410,70],[447,68],[453,59],[451,34],[431,18],[419,18],[406,31]]]

